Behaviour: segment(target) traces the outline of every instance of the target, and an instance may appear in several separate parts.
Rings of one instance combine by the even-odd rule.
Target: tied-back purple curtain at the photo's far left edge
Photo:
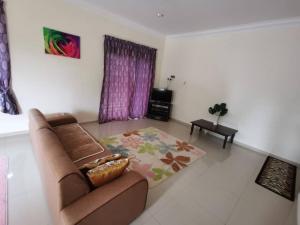
[[[10,88],[10,57],[6,16],[3,2],[0,2],[0,111],[12,115],[19,114],[15,97]]]

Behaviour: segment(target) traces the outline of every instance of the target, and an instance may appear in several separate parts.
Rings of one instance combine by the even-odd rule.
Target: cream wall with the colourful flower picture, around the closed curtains
[[[63,0],[6,1],[13,90],[22,115],[0,113],[0,136],[27,129],[27,111],[71,112],[80,121],[97,120],[103,79],[103,35],[158,49],[159,81],[164,37],[89,7]],[[43,26],[81,37],[81,59],[46,55]]]

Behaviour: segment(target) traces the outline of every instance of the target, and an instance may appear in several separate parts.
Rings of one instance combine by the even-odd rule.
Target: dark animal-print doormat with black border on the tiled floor
[[[268,156],[255,183],[291,201],[295,199],[297,167]]]

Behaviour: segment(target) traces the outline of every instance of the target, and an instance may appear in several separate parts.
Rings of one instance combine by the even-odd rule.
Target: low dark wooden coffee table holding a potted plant
[[[225,127],[225,126],[222,126],[219,124],[214,125],[213,122],[203,120],[203,119],[195,120],[195,121],[192,121],[191,123],[192,123],[192,127],[191,127],[190,135],[193,134],[194,126],[200,127],[200,131],[202,129],[205,129],[205,130],[209,130],[211,132],[220,134],[225,137],[224,142],[223,142],[223,148],[226,147],[228,137],[230,137],[230,143],[233,143],[234,136],[238,132],[238,130],[232,129],[230,127]]]

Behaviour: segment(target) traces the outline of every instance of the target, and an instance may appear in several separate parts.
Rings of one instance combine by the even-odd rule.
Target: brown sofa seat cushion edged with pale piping
[[[53,128],[71,160],[82,163],[102,157],[105,149],[79,124],[67,124]]]

